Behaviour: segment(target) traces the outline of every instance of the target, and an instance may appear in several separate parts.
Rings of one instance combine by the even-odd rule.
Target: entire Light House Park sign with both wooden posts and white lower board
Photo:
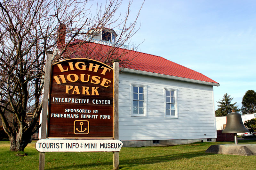
[[[48,63],[51,55],[41,139],[36,142],[39,170],[44,169],[45,152],[113,152],[113,169],[118,169],[123,145],[118,140],[119,61],[113,62],[114,68],[85,58]]]

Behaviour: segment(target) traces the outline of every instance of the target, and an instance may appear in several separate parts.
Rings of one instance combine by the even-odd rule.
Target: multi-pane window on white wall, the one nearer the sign
[[[132,116],[147,116],[146,91],[145,86],[131,85]]]

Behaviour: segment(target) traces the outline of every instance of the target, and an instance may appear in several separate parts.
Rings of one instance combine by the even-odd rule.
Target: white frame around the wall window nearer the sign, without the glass
[[[139,84],[130,84],[131,85],[131,116],[134,117],[147,117],[148,116],[148,95],[147,95],[147,86],[145,85],[139,85]],[[133,114],[133,86],[137,87],[143,87],[143,93],[144,93],[144,102],[143,102],[143,114]]]

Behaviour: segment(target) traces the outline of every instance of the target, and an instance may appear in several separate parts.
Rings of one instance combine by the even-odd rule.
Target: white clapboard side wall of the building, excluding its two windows
[[[131,84],[147,86],[147,116],[131,116]],[[164,88],[177,90],[178,118],[164,117]],[[119,139],[216,138],[213,87],[132,73],[119,74]]]

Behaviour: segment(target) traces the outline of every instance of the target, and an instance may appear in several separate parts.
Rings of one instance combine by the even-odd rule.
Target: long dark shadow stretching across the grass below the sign
[[[205,153],[204,151],[200,152],[187,152],[187,153],[177,153],[177,154],[168,154],[168,155],[161,155],[161,156],[152,156],[152,157],[142,157],[142,158],[129,158],[129,159],[120,159],[119,158],[119,169],[122,168],[132,168],[133,166],[139,165],[147,165],[147,164],[154,164],[154,163],[161,163],[161,162],[169,162],[172,160],[179,160],[179,159],[190,159],[193,157],[205,156],[205,155],[213,155],[211,153]],[[77,164],[72,166],[60,166],[54,167],[50,169],[78,169],[78,168],[92,168],[97,169],[99,166],[109,166],[111,165],[112,168],[112,161],[109,162],[98,162],[98,163],[89,163],[89,164]],[[48,169],[48,168],[47,168]]]

